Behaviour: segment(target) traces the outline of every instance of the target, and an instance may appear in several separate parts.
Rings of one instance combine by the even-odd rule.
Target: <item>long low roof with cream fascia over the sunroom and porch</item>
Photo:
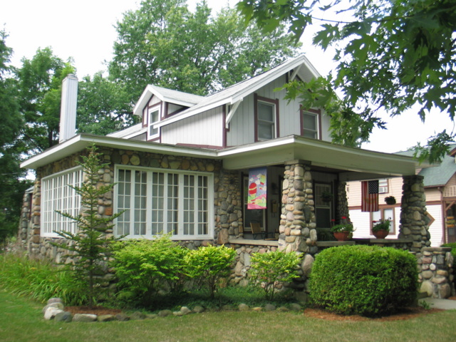
[[[298,135],[214,150],[80,134],[25,160],[21,167],[36,169],[79,152],[93,143],[122,150],[222,160],[227,170],[283,165],[291,160],[304,160],[310,162],[314,170],[338,173],[341,181],[415,175],[417,166],[413,157],[345,147]]]

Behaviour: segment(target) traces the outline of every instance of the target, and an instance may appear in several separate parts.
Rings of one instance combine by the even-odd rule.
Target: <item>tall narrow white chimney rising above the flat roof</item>
[[[60,133],[58,142],[64,142],[76,135],[76,105],[78,103],[78,78],[68,75],[62,81],[60,109]]]

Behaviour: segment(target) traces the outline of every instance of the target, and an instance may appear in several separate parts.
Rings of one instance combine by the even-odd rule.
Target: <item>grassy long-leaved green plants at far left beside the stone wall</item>
[[[0,286],[41,303],[52,297],[60,297],[68,306],[88,300],[85,284],[78,281],[73,272],[24,255],[0,255]]]

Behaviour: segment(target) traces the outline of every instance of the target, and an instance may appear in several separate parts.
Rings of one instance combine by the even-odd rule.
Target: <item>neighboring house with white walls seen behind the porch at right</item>
[[[456,216],[456,145],[446,155],[440,165],[421,168],[417,174],[424,177],[427,221],[429,224],[430,245],[440,247],[447,242],[456,242],[454,217]],[[413,155],[412,151],[398,152],[400,155]],[[379,211],[361,212],[361,182],[347,183],[347,198],[350,217],[358,227],[353,237],[372,236],[372,222],[378,219],[392,220],[387,239],[397,237],[400,226],[400,204],[402,197],[402,179],[388,177],[379,180]],[[393,196],[395,204],[386,204],[385,197]]]

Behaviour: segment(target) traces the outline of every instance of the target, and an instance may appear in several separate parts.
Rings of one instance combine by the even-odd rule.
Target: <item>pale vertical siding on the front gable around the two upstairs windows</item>
[[[261,98],[271,100],[279,99],[279,137],[287,135],[301,135],[301,118],[299,113],[299,100],[284,100],[285,90],[274,91],[275,88],[284,86],[285,76],[276,78],[273,82],[260,88],[256,93]],[[330,141],[328,128],[329,118],[322,115],[321,135],[323,140]],[[255,118],[254,118],[254,94],[248,95],[239,104],[234,116],[229,124],[227,132],[227,145],[245,145],[255,141]],[[279,138],[277,137],[277,138]]]

